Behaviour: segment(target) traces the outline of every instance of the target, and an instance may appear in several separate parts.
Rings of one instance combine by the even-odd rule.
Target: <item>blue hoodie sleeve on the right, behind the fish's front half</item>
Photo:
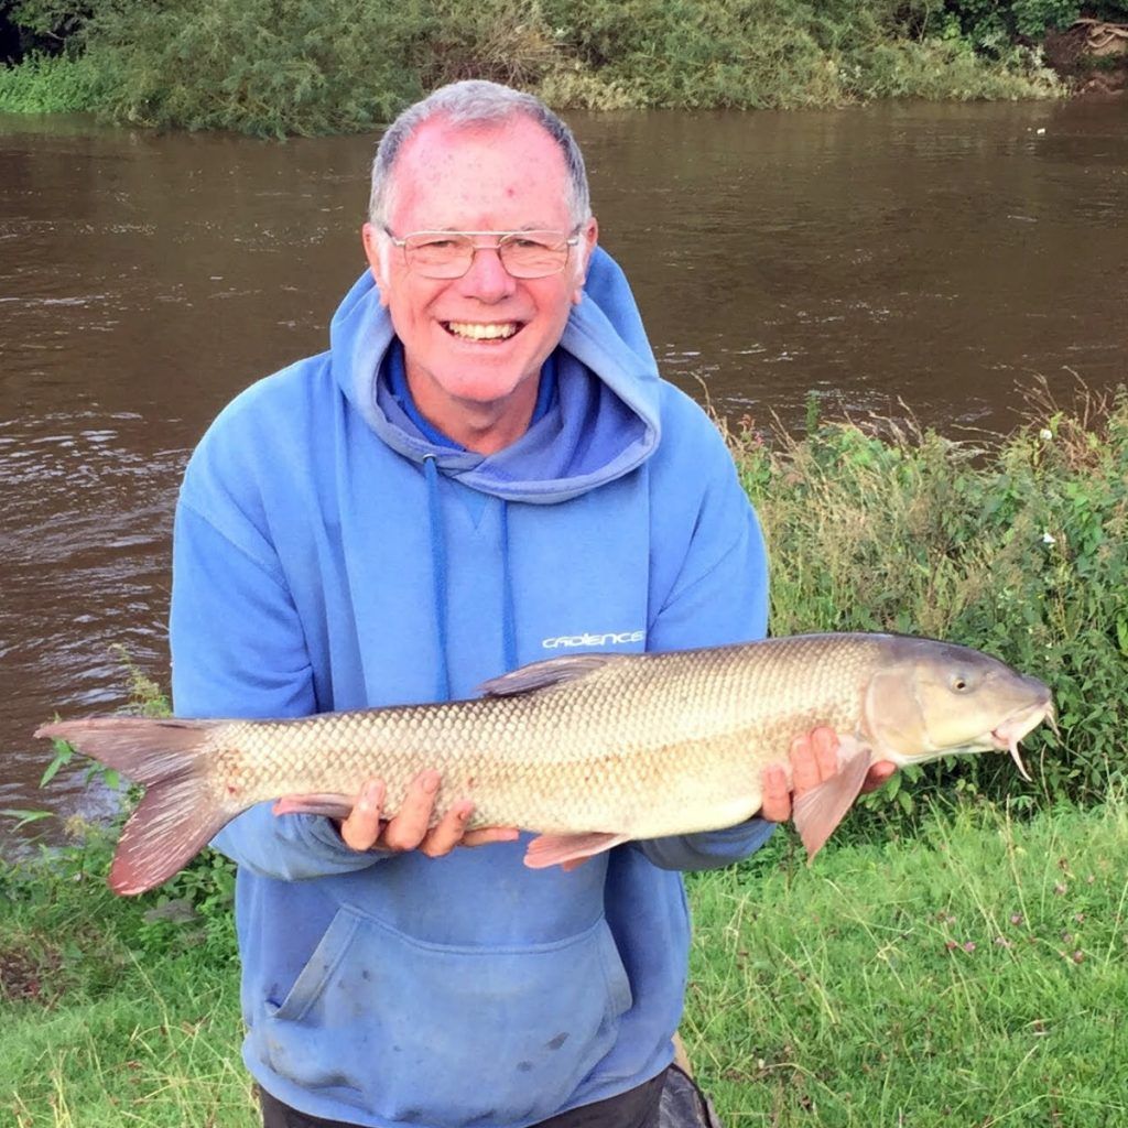
[[[768,564],[759,521],[716,430],[708,424],[708,433],[698,435],[695,462],[706,486],[688,548],[650,625],[649,650],[721,646],[767,632]],[[774,822],[752,818],[723,830],[638,845],[663,870],[712,870],[748,857],[774,829]]]

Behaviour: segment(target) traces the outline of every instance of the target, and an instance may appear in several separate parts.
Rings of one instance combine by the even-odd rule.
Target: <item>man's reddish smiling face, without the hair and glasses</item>
[[[527,117],[490,129],[432,120],[399,153],[393,176],[388,227],[399,238],[573,227],[564,157]],[[409,271],[403,250],[387,240],[381,255],[379,233],[364,226],[369,263],[424,414],[442,426],[449,411],[531,404],[540,365],[580,300],[596,233],[590,220],[563,272],[548,277],[511,277],[495,250],[479,249],[462,277],[440,280]]]

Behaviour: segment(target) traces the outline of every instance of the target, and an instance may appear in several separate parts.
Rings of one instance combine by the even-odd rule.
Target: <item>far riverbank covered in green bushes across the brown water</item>
[[[423,91],[468,77],[534,90],[562,109],[1061,95],[1040,43],[1072,6],[994,7],[986,19],[971,2],[895,0],[426,0],[399,9],[122,0],[95,14],[26,2],[7,16],[23,49],[10,47],[16,65],[0,71],[0,111],[92,111],[124,124],[282,136],[372,130]]]

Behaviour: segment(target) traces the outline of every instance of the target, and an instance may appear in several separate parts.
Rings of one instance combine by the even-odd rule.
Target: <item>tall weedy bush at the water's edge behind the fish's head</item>
[[[1050,686],[1060,738],[1029,738],[1034,785],[1003,757],[925,769],[948,792],[1017,794],[1020,808],[1128,782],[1128,391],[1037,409],[994,449],[848,422],[737,443],[770,545],[775,634],[942,637]]]

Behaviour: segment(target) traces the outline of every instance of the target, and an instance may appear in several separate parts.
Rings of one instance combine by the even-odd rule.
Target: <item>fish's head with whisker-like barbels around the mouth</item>
[[[989,654],[927,638],[892,640],[892,660],[865,698],[879,756],[920,764],[957,752],[1008,751],[1023,778],[1019,741],[1048,720],[1050,691]]]

